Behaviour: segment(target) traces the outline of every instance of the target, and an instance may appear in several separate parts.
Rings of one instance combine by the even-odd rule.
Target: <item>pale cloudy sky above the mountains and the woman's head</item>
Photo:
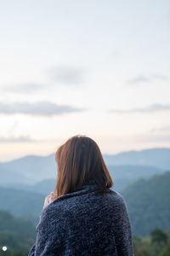
[[[0,0],[0,161],[169,148],[169,45],[168,0]]]

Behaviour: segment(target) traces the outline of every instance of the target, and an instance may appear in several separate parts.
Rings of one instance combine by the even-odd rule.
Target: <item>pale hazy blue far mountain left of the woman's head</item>
[[[37,183],[45,178],[54,178],[57,167],[54,154],[48,156],[28,155],[26,157],[0,163],[0,184]],[[18,180],[17,180],[18,177]]]

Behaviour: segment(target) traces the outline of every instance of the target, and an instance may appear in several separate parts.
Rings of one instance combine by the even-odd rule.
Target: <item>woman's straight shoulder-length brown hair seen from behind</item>
[[[58,175],[54,192],[58,196],[82,188],[89,179],[95,180],[102,193],[114,184],[98,144],[89,137],[68,139],[57,149],[55,160]]]

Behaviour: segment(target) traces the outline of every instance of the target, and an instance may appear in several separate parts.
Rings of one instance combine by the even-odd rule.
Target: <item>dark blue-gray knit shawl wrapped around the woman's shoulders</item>
[[[94,180],[42,209],[37,240],[28,256],[133,256],[127,205],[122,195]]]

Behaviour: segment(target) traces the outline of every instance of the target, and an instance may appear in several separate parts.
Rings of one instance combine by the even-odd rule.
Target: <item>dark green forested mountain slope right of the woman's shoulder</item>
[[[133,234],[147,236],[155,228],[170,226],[170,172],[139,179],[123,190],[122,195],[132,222]]]

